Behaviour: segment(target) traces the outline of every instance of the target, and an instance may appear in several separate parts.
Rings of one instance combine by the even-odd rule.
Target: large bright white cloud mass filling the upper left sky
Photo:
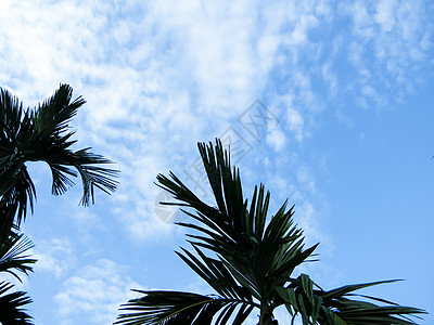
[[[136,205],[130,193],[152,193],[175,147],[194,151],[219,121],[244,109],[264,87],[279,43],[279,25],[272,16],[258,24],[251,3],[7,5],[1,54],[10,64],[0,82],[26,104],[51,95],[59,82],[82,94],[77,138],[122,167],[126,206]],[[152,214],[138,216],[140,224],[155,224]]]

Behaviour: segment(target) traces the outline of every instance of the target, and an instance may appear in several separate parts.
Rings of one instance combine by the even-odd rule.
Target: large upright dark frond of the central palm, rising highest
[[[169,178],[158,174],[157,185],[173,194],[178,199],[175,205],[196,221],[178,223],[195,231],[188,234],[191,243],[217,253],[234,280],[251,288],[257,299],[268,297],[308,259],[316,245],[304,248],[303,232],[293,224],[293,208],[288,210],[286,203],[268,217],[270,194],[264,185],[255,187],[247,208],[239,170],[230,166],[229,154],[218,139],[215,147],[200,143],[199,151],[216,207],[202,202],[171,172]]]

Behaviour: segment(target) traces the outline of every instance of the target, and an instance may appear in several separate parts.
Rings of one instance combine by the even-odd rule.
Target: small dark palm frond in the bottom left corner
[[[0,324],[33,325],[33,317],[23,309],[31,299],[24,291],[7,294],[12,288],[12,284],[0,282]]]

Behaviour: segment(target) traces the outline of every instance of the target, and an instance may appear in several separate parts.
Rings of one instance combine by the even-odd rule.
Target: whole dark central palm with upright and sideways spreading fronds
[[[292,277],[311,261],[317,245],[306,248],[302,230],[293,223],[288,200],[268,217],[270,193],[256,186],[251,203],[243,197],[239,170],[219,140],[199,144],[215,206],[191,192],[173,172],[157,176],[157,185],[170,193],[176,205],[195,222],[179,222],[193,251],[177,255],[216,294],[204,296],[170,290],[136,290],[143,295],[120,307],[115,324],[242,324],[257,310],[259,325],[278,324],[273,312],[285,306],[294,323],[303,324],[414,324],[407,315],[422,310],[361,296],[354,290],[380,283],[344,286],[326,291],[308,275]],[[368,300],[368,301],[367,301]],[[385,306],[375,303],[382,302]]]

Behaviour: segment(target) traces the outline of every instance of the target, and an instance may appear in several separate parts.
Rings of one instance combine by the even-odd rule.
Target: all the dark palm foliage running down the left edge
[[[82,182],[81,204],[94,202],[94,187],[110,193],[116,188],[117,171],[101,167],[108,159],[89,152],[73,151],[76,142],[68,130],[71,119],[85,104],[72,101],[73,89],[61,84],[54,94],[35,108],[23,108],[18,99],[0,88],[0,272],[20,280],[16,271],[27,274],[36,260],[23,256],[33,244],[17,230],[33,212],[36,188],[26,168],[27,161],[44,161],[52,174],[52,193],[63,194],[79,176]],[[26,292],[12,291],[13,285],[0,282],[0,323],[31,324],[23,309],[31,302]]]

